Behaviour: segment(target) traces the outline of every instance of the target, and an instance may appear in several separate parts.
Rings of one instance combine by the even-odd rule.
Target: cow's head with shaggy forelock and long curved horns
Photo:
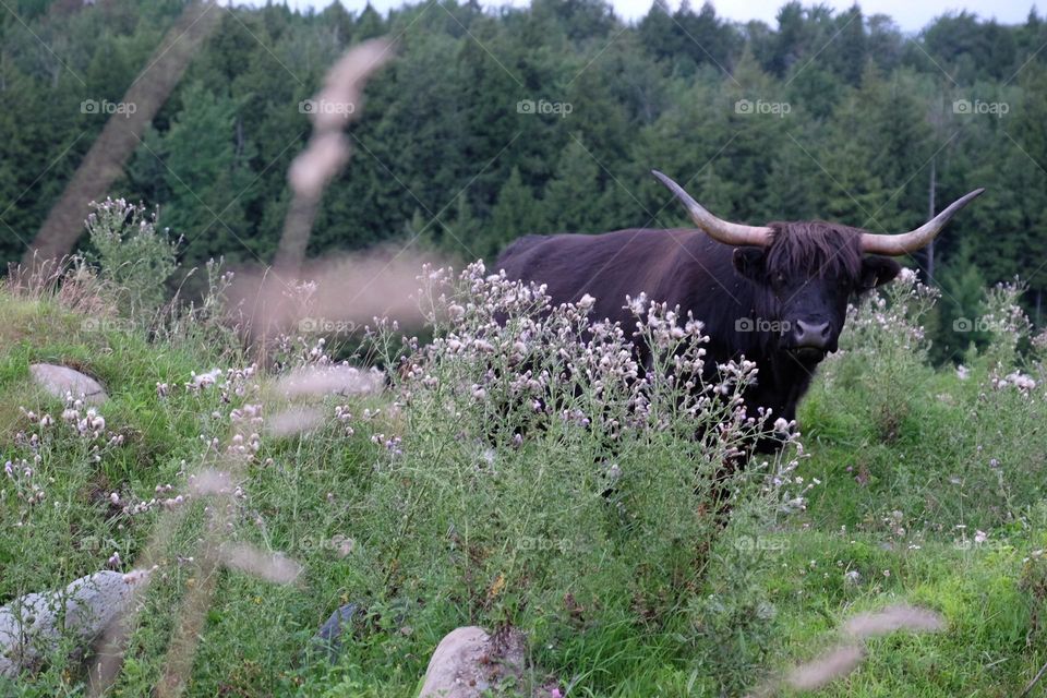
[[[892,256],[926,246],[953,214],[985,191],[959,198],[916,230],[884,236],[821,221],[730,222],[702,208],[661,172],[654,176],[684,202],[699,228],[735,246],[735,272],[757,286],[753,310],[760,325],[754,329],[768,333],[777,348],[810,364],[837,350],[851,298],[898,276],[901,266]]]

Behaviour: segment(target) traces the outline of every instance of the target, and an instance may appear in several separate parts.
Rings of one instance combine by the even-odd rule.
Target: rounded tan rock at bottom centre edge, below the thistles
[[[527,643],[518,630],[497,637],[476,626],[452,630],[429,660],[419,698],[480,698],[506,683],[519,689],[526,657]]]

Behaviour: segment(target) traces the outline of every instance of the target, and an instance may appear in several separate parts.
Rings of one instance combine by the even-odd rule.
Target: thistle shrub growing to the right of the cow
[[[971,321],[983,349],[939,371],[923,329],[938,293],[915,275],[852,309],[842,350],[825,362],[803,412],[837,446],[819,458],[845,464],[847,479],[867,490],[844,497],[847,508],[863,504],[864,521],[902,532],[988,530],[1044,496],[1047,342],[1030,339],[1022,290],[990,289]]]

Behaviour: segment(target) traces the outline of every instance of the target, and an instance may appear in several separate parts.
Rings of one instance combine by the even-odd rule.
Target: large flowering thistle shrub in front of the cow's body
[[[544,287],[480,263],[423,280],[435,337],[409,342],[359,503],[388,591],[546,638],[623,617],[660,627],[702,583],[721,497],[802,506],[795,458],[724,469],[771,425],[742,401],[753,363],[702,382],[700,323],[630,299],[654,349],[641,372],[627,330],[592,321],[588,297],[554,308]],[[373,330],[375,345],[390,333]]]

